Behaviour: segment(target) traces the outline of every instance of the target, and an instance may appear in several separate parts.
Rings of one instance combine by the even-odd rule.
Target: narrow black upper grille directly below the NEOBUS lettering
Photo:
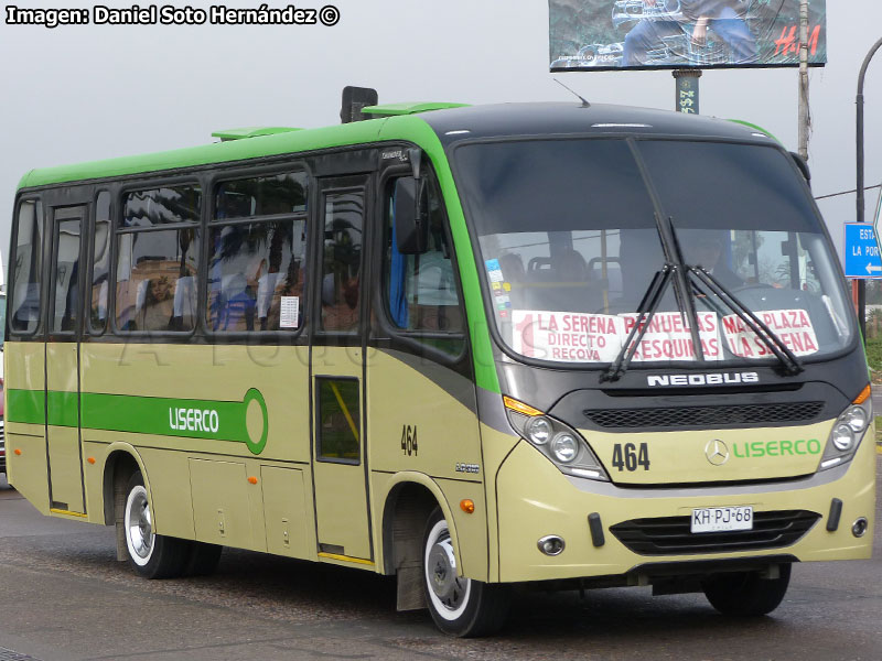
[[[657,409],[595,409],[583,411],[602,427],[679,427],[797,422],[811,420],[824,402],[782,402],[724,407],[665,407]]]

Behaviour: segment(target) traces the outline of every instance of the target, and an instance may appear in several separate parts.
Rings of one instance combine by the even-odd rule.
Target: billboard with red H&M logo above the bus
[[[826,0],[808,61],[827,63]],[[549,0],[552,72],[799,65],[799,0]]]

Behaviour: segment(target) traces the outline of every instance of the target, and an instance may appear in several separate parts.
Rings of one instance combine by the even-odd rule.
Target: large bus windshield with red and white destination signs
[[[666,262],[702,267],[800,360],[854,336],[841,277],[798,171],[775,148],[569,139],[456,150],[497,329],[551,362],[616,359]],[[660,226],[667,224],[668,239]],[[690,288],[693,334],[666,290],[633,361],[774,360],[742,316]]]

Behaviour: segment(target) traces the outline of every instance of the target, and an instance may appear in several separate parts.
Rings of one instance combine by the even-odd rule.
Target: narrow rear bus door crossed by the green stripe
[[[79,444],[82,230],[86,207],[55,208],[46,335],[46,446],[51,509],[85,513]]]

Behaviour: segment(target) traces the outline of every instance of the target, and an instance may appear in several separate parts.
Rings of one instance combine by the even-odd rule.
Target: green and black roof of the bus
[[[329,147],[400,140],[421,132],[420,129],[426,129],[427,124],[444,147],[477,138],[587,133],[665,134],[773,141],[772,138],[767,138],[765,133],[754,127],[647,108],[601,104],[583,107],[576,102],[444,106],[448,107],[318,129],[289,129],[284,132],[269,132],[269,134],[263,134],[259,129],[249,129],[254,137],[247,139],[225,140],[152,154],[32,170],[22,177],[19,188],[160,173]]]

